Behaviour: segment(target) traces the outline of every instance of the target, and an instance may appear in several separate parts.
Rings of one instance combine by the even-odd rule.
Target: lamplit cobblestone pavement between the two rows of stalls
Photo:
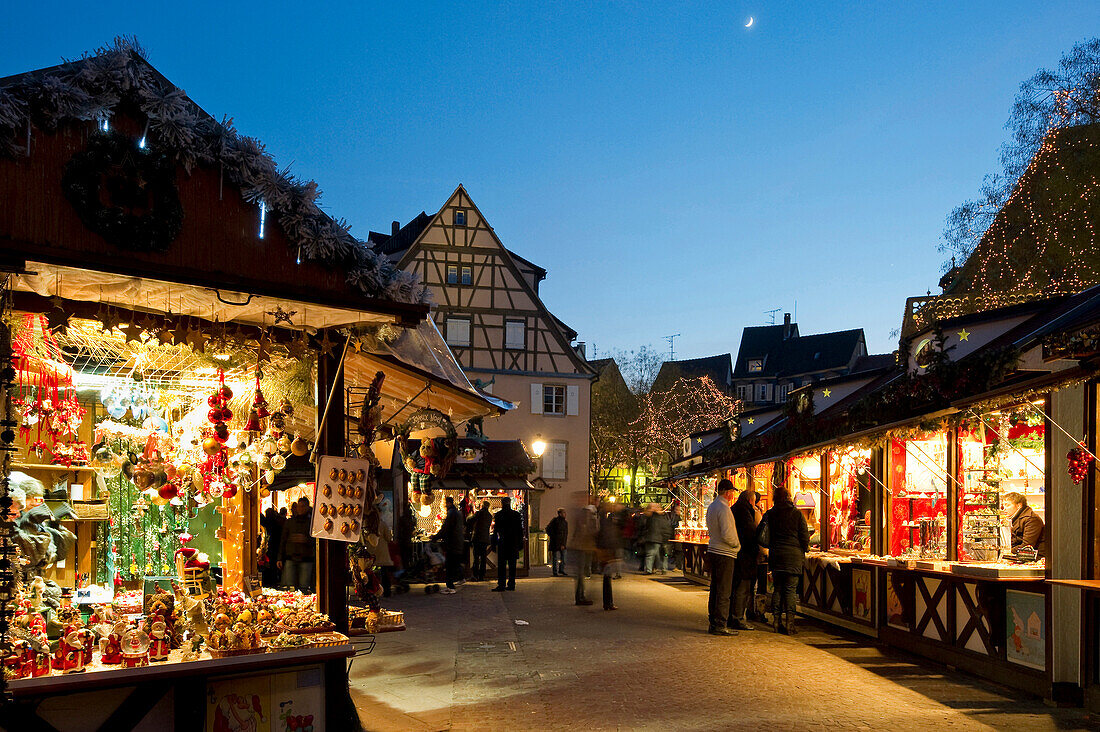
[[[536,570],[516,592],[420,587],[387,601],[409,630],[378,635],[352,665],[367,730],[1072,730],[1079,709],[883,652],[803,621],[705,633],[706,591],[668,575],[600,586],[573,605],[572,580]],[[516,621],[527,625],[517,625]],[[1094,728],[1092,728],[1094,729]]]

